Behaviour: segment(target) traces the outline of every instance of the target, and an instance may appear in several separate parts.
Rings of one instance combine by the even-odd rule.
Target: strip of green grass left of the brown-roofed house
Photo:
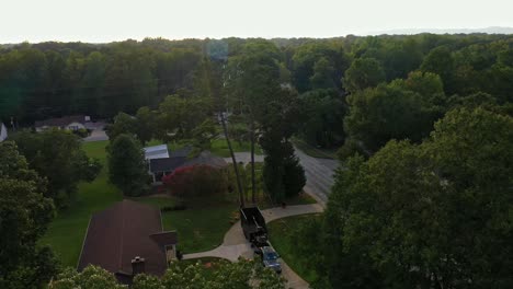
[[[39,241],[41,244],[50,245],[65,266],[77,266],[91,213],[123,199],[121,192],[107,182],[107,143],[109,141],[83,143],[88,155],[100,159],[103,169],[94,182],[79,185],[75,201],[68,209],[58,212]]]

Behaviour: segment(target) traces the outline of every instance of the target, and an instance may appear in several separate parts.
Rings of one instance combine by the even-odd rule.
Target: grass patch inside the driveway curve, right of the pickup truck
[[[305,264],[310,264],[308,261],[304,259],[308,256],[297,254],[295,250],[295,242],[292,238],[289,238],[292,232],[299,228],[301,222],[308,218],[318,217],[316,215],[303,215],[275,220],[267,224],[267,230],[269,236],[271,239],[270,241],[280,256],[301,278],[308,282],[312,282],[316,280],[317,275],[312,268],[305,266]]]

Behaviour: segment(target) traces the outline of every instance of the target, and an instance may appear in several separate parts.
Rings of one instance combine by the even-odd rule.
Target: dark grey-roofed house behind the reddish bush
[[[162,184],[162,177],[172,173],[174,170],[206,164],[215,169],[223,169],[228,165],[225,159],[212,154],[209,151],[203,151],[195,158],[187,158],[192,148],[184,148],[171,152],[169,158],[150,159],[149,160],[149,174],[153,177],[153,185]]]

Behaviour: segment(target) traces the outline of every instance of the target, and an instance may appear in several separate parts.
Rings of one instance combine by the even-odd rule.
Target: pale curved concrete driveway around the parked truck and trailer
[[[319,204],[288,206],[286,208],[272,208],[262,211],[265,222],[269,223],[276,219],[321,212],[323,207]],[[272,245],[272,244],[271,244]],[[223,244],[212,251],[186,254],[184,259],[193,259],[201,257],[219,257],[236,262],[240,256],[246,258],[253,258],[254,252],[250,243],[244,239],[240,221],[233,224],[230,230],[225,234]],[[288,288],[303,289],[309,288],[308,282],[299,277],[288,265],[282,259],[282,276],[287,279]]]

